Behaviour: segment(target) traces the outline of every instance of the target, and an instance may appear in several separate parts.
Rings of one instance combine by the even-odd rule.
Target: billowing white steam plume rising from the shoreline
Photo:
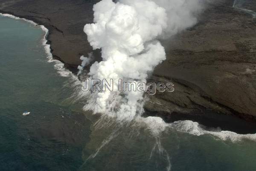
[[[91,93],[85,109],[131,121],[143,111],[141,91],[118,91],[118,79],[146,82],[148,72],[166,59],[156,38],[196,23],[198,0],[102,0],[93,7],[94,22],[84,26],[93,49],[102,49],[102,62],[90,67],[91,79],[113,79],[113,91]]]

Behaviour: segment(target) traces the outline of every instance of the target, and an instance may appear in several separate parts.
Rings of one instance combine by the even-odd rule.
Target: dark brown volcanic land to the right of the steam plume
[[[256,120],[256,20],[232,6],[210,5],[197,25],[164,41],[167,59],[152,79],[172,81],[176,90],[150,97],[148,111],[211,110]]]

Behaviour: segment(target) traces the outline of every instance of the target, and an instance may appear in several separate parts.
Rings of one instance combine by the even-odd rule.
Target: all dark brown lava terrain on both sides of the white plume
[[[96,2],[0,0],[0,12],[45,25],[53,56],[75,72],[79,57],[92,51],[83,27],[93,22]],[[243,8],[256,11],[256,1],[247,0]],[[222,128],[233,122],[233,130],[249,126],[255,133],[256,18],[233,8],[233,0],[215,1],[207,4],[197,25],[161,42],[167,59],[148,81],[172,81],[175,92],[150,96],[145,115]],[[94,53],[99,60],[99,50]]]

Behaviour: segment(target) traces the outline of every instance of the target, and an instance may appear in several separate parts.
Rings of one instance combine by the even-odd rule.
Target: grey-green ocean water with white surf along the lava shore
[[[83,112],[72,74],[49,62],[44,34],[0,17],[1,171],[256,170],[256,135],[160,118],[125,124]]]

